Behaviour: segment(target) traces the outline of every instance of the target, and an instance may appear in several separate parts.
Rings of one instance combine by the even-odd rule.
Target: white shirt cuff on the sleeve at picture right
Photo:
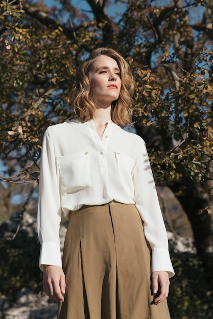
[[[168,272],[169,278],[175,275],[170,259],[170,253],[165,248],[155,247],[152,250],[152,272]]]

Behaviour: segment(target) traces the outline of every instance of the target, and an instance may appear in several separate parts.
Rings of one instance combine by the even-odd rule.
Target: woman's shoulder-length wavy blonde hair
[[[119,125],[125,126],[132,119],[132,95],[134,92],[134,81],[129,64],[114,49],[101,47],[93,50],[76,71],[76,87],[69,94],[69,103],[74,109],[75,117],[82,123],[91,120],[96,111],[94,98],[92,96],[89,73],[94,61],[100,56],[114,59],[121,71],[122,86],[119,98],[111,104],[111,119]]]

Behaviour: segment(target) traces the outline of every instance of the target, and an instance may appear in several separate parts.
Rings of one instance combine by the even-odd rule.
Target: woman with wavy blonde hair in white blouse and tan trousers
[[[121,128],[131,121],[133,89],[120,54],[92,51],[69,97],[76,119],[44,134],[39,265],[45,293],[60,302],[58,319],[170,318],[174,271],[146,146]]]

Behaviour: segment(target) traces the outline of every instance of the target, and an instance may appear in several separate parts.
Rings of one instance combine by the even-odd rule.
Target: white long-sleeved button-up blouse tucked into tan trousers
[[[152,271],[174,275],[145,142],[108,122],[102,140],[93,121],[76,120],[46,129],[41,153],[38,235],[39,265],[61,266],[61,214],[112,200],[135,204],[152,249]]]

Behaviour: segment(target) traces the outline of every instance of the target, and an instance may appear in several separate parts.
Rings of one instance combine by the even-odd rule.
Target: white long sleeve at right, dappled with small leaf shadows
[[[161,209],[155,182],[144,141],[138,149],[137,163],[133,171],[135,205],[144,222],[144,231],[152,249],[152,272],[167,271],[174,276]]]

